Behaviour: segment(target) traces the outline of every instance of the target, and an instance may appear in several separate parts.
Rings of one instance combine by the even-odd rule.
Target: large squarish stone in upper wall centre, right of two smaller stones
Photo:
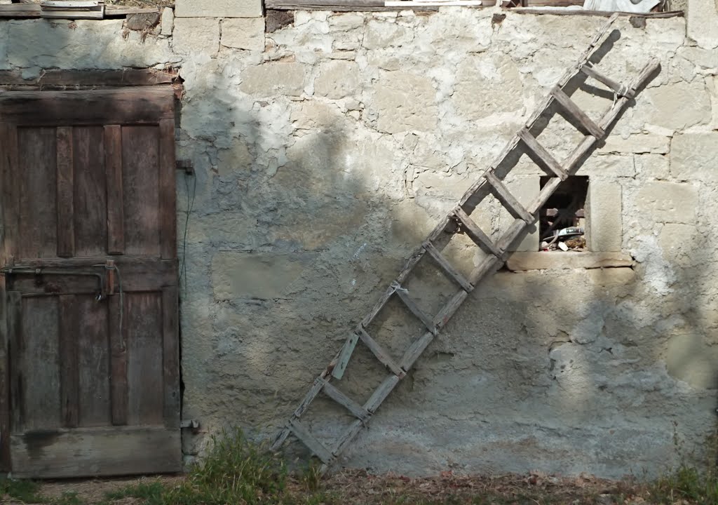
[[[400,131],[433,131],[437,126],[436,91],[429,78],[406,72],[390,72],[376,86],[370,107],[378,114],[376,128]]]

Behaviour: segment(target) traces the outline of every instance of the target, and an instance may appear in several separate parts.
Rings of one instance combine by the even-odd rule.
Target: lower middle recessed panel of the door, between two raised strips
[[[78,341],[78,425],[82,427],[111,424],[110,343],[108,336],[108,303],[93,295],[78,296],[75,310],[82,327],[75,333]]]

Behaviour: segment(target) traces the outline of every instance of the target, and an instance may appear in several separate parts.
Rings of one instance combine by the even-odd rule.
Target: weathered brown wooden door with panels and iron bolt
[[[172,88],[0,93],[0,170],[4,466],[179,471]]]

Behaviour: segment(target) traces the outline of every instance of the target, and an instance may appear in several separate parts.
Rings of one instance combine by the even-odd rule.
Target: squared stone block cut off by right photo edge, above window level
[[[679,180],[718,181],[718,131],[676,134],[671,143],[671,176]]]

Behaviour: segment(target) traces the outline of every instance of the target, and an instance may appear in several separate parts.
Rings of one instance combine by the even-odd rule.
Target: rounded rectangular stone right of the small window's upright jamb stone
[[[651,180],[641,187],[635,205],[643,222],[693,224],[698,191],[685,182]]]

